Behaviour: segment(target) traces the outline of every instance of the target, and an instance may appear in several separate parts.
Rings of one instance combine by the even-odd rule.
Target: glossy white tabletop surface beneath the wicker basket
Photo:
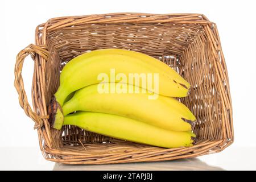
[[[229,147],[218,154],[166,162],[67,165],[48,162],[34,147],[0,148],[0,170],[256,170],[256,147]]]

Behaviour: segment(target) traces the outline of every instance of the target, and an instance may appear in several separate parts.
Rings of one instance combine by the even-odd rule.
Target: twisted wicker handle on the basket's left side
[[[46,46],[35,46],[34,44],[28,45],[26,48],[22,49],[18,55],[16,56],[15,63],[15,80],[14,86],[19,94],[19,104],[26,113],[28,117],[30,117],[35,122],[34,129],[39,129],[43,126],[43,118],[47,118],[46,116],[40,116],[35,113],[30,104],[28,104],[27,94],[24,90],[24,83],[22,78],[22,67],[24,63],[25,57],[31,55],[32,59],[35,60],[35,56],[40,55],[43,59],[47,60],[49,56],[49,52],[45,49]]]

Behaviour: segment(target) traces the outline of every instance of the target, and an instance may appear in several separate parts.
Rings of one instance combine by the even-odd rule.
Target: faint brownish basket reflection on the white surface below
[[[223,170],[220,167],[209,166],[200,159],[180,159],[164,162],[141,162],[141,163],[124,163],[124,164],[100,164],[100,165],[69,165],[56,163],[53,167],[54,171],[94,171],[94,170],[141,170],[141,171],[177,171],[177,170]]]

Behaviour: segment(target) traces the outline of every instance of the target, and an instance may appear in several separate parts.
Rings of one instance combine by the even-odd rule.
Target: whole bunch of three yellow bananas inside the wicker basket
[[[112,79],[113,70],[119,74],[115,77],[118,81]],[[141,77],[127,83],[131,73]],[[152,73],[157,74],[154,81]],[[151,82],[143,82],[143,74]],[[104,76],[110,79],[102,80]],[[75,125],[153,146],[192,146],[196,118],[173,98],[187,96],[189,88],[174,69],[154,57],[123,49],[99,49],[65,65],[59,89],[48,106],[49,121],[59,130],[63,125]]]

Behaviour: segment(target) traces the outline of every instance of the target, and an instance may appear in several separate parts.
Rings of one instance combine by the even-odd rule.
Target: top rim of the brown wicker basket
[[[150,14],[150,13],[107,13],[80,16],[60,16],[50,18],[47,22],[39,24],[36,31],[54,31],[59,28],[76,26],[76,24],[94,23],[198,23],[215,24],[207,16],[198,13]],[[41,31],[41,30],[42,31]]]

